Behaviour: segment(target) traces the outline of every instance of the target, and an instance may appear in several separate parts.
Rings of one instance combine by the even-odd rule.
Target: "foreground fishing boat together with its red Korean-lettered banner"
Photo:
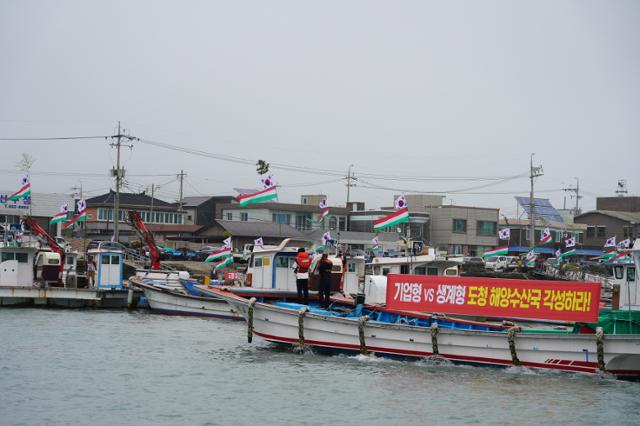
[[[636,241],[633,254],[637,268],[640,240]],[[625,300],[621,294],[619,310],[601,311],[598,316],[600,288],[597,283],[416,275],[389,275],[387,278],[386,304],[364,304],[351,309],[337,306],[339,309],[325,310],[284,301],[259,301],[225,289],[211,292],[226,300],[247,320],[250,339],[255,334],[271,342],[318,350],[408,358],[437,357],[454,363],[516,365],[586,374],[606,372],[618,378],[640,378],[640,312],[633,310],[632,301]],[[424,284],[424,287],[417,287],[417,284]],[[510,299],[502,309],[504,315],[486,315],[486,310],[478,310],[480,315],[477,316],[493,317],[497,321],[475,321],[471,317],[456,316],[461,307],[469,307],[470,284],[475,285],[476,291],[482,286],[506,288],[507,292],[516,290],[521,301],[524,300],[523,289],[529,289],[526,293],[529,298],[532,294],[544,294],[545,297],[550,294],[550,305],[546,306],[545,299],[545,309],[549,312],[562,309],[547,318],[546,314],[534,312],[532,306],[528,310],[522,307],[524,304],[519,310],[510,308],[509,303],[513,302]],[[442,305],[440,311],[430,312],[446,313],[419,313],[427,312],[419,308],[426,303],[427,290],[439,292],[442,285],[446,285],[447,290],[458,291],[457,296],[456,293],[451,298],[448,294],[442,295],[447,299],[446,307]],[[638,280],[632,285],[637,287]],[[412,306],[411,302],[421,294],[416,289],[424,290],[424,299],[420,300],[423,304],[416,304],[417,308],[413,310],[398,309],[397,306]],[[440,293],[437,294],[439,298]],[[562,295],[563,299],[554,302],[556,295]],[[572,299],[567,302],[568,295]],[[474,300],[477,309],[477,297]],[[398,301],[404,301],[404,304]],[[452,303],[448,304],[449,301]],[[527,302],[531,300],[527,299]],[[565,302],[568,305],[554,305]],[[484,303],[488,305],[486,300]],[[541,300],[537,303],[542,305]],[[561,312],[565,306],[569,309]],[[532,312],[531,316],[527,316],[528,311]],[[466,313],[472,314],[473,310]],[[500,317],[508,317],[510,321],[500,321]],[[579,321],[580,318],[589,318],[589,321]]]

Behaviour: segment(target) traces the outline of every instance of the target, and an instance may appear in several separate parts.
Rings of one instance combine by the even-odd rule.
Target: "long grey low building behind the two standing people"
[[[309,196],[303,196],[309,197]],[[320,196],[317,196],[320,197]],[[315,201],[315,200],[314,200]],[[311,231],[314,228],[346,231],[348,229],[348,209],[329,207],[329,218],[321,224],[315,222],[320,218],[322,209],[318,203],[258,203],[240,207],[238,203],[219,204],[216,207],[216,218],[240,222],[273,222],[289,225],[299,231]]]

